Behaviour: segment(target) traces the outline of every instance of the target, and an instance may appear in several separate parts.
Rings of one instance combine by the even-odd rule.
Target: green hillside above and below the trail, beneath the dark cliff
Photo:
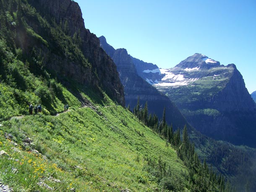
[[[0,156],[1,182],[15,191],[184,191],[200,187],[188,179],[188,168],[165,139],[127,109],[116,106],[104,92],[73,83],[72,91],[80,91],[77,98],[57,80],[33,75],[2,43],[8,50],[1,58],[9,59],[6,71],[16,68],[30,89],[16,86],[20,81],[12,75],[9,81],[1,79],[0,149],[7,153]],[[44,92],[39,94],[37,88]],[[42,113],[29,115],[29,103],[41,103]],[[61,113],[66,103],[71,108]],[[203,176],[200,173],[195,180]]]

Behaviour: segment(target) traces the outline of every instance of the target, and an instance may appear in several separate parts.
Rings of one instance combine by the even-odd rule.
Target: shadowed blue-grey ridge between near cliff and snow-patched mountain
[[[112,59],[117,66],[121,82],[125,89],[126,105],[130,104],[131,109],[133,109],[139,97],[142,107],[144,107],[147,101],[149,113],[157,114],[159,119],[162,118],[162,112],[165,107],[167,122],[169,124],[172,123],[175,129],[178,127],[183,128],[185,124],[188,125],[183,115],[170,99],[159,93],[156,88],[152,87],[138,75],[133,59],[127,53],[126,49],[115,50],[107,44],[104,37],[100,37],[99,39],[102,48],[110,54],[113,53],[111,54]]]

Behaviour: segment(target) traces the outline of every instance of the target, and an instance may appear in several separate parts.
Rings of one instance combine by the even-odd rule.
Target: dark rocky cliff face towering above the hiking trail
[[[49,24],[42,29],[37,21],[27,19],[29,26],[43,39],[50,42],[48,46],[43,44],[29,44],[21,42],[26,52],[41,53],[45,55],[43,65],[54,70],[66,78],[72,78],[79,83],[99,87],[115,101],[125,105],[123,86],[116,70],[116,66],[111,58],[99,45],[99,39],[85,29],[84,19],[78,3],[72,0],[28,0],[34,8],[47,18]],[[50,33],[51,28],[61,28],[66,35],[76,40],[79,49],[67,50],[62,45],[56,44],[54,34]],[[68,39],[67,39],[68,41]],[[67,43],[67,42],[66,42]],[[65,44],[63,42],[63,44]],[[83,58],[69,57],[69,52],[81,52]],[[84,65],[83,63],[89,63]]]

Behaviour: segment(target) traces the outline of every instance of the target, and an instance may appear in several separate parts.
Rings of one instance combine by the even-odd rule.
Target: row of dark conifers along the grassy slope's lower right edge
[[[130,107],[128,106],[128,109]],[[130,110],[130,109],[129,109]],[[147,127],[152,129],[154,132],[159,134],[160,137],[166,140],[177,152],[178,157],[184,162],[185,166],[188,168],[188,174],[186,179],[188,183],[186,188],[191,191],[217,191],[224,192],[230,191],[230,187],[225,182],[225,178],[221,174],[217,174],[212,166],[209,168],[206,161],[201,163],[197,153],[195,152],[195,146],[190,142],[188,136],[187,126],[182,130],[178,128],[173,131],[172,125],[168,125],[165,117],[165,108],[163,109],[162,118],[159,119],[156,114],[149,114],[148,104],[146,102],[144,108],[141,107],[139,97],[136,106],[133,109],[133,114],[143,122]],[[150,161],[151,162],[151,161]],[[162,172],[168,172],[164,170]],[[166,174],[165,174],[166,175]],[[165,184],[165,188],[168,190],[173,190],[173,186]]]

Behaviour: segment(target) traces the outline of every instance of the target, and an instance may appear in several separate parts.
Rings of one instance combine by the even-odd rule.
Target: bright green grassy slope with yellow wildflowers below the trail
[[[186,169],[175,151],[120,106],[26,116],[1,124],[0,148],[9,156],[0,157],[0,179],[17,191],[47,191],[37,184],[40,181],[57,191],[72,187],[77,191],[119,191],[122,187],[152,191],[158,186],[156,178],[144,170],[145,159],[158,161],[159,156],[173,176],[185,182],[179,175]],[[5,132],[13,138],[6,140]],[[26,137],[33,144],[24,145]],[[42,155],[31,153],[32,148]]]

